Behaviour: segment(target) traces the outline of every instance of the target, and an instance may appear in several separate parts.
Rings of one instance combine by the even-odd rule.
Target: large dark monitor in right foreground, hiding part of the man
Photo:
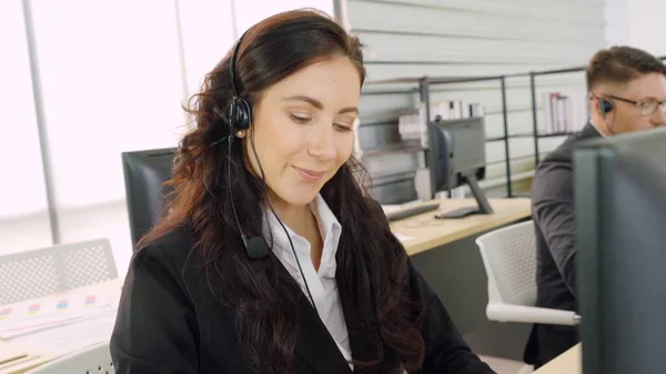
[[[660,372],[666,347],[666,129],[574,151],[585,374]]]

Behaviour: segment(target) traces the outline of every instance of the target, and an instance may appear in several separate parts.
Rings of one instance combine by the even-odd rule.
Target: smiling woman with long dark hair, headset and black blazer
[[[307,10],[206,75],[125,279],[117,373],[493,373],[356,179],[364,79],[359,40]]]

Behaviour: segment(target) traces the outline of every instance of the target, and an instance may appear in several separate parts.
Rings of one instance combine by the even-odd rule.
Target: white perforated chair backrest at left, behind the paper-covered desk
[[[0,256],[0,305],[118,277],[108,239]]]

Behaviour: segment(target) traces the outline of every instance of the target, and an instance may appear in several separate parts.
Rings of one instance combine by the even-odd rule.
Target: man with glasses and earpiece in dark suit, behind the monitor
[[[645,51],[613,47],[592,58],[586,83],[592,118],[539,163],[532,188],[536,306],[576,312],[573,149],[586,139],[666,124],[666,65]],[[525,362],[539,367],[577,342],[576,327],[536,324]]]

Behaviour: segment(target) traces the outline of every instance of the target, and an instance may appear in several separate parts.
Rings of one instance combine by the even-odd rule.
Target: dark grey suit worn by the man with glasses
[[[536,230],[536,306],[577,311],[576,247],[574,245],[573,150],[598,138],[587,123],[537,166],[532,185],[532,216]],[[573,326],[535,324],[525,350],[525,362],[536,367],[578,342]]]

